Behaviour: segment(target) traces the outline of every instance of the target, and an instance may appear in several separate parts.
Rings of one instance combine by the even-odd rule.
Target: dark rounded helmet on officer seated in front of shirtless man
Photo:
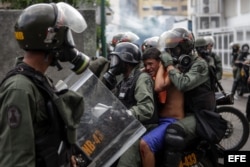
[[[110,55],[117,55],[123,62],[132,64],[138,64],[141,60],[139,47],[131,42],[118,43]]]

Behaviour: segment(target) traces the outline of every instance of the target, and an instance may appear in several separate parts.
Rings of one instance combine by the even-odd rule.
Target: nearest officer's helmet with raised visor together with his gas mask
[[[70,62],[79,74],[88,66],[89,58],[75,48],[71,31],[81,33],[87,28],[82,15],[64,3],[39,3],[24,9],[15,24],[15,38],[26,51],[43,51],[58,61]]]

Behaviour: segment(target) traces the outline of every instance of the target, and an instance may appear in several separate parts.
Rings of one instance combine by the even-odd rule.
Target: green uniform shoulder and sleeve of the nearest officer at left
[[[0,89],[0,166],[35,167],[35,133],[33,122],[48,119],[44,99],[25,76],[8,79]]]

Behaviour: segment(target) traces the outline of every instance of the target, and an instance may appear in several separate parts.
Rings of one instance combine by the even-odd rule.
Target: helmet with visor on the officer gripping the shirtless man
[[[194,49],[194,36],[185,28],[174,28],[161,34],[158,42],[160,51],[179,47],[179,54],[189,54]]]

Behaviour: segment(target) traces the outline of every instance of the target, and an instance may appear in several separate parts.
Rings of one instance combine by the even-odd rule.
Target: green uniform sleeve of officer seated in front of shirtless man
[[[149,120],[154,112],[154,95],[153,95],[153,80],[151,77],[142,73],[135,86],[135,99],[137,101],[135,106],[130,108],[132,114],[139,121]]]

